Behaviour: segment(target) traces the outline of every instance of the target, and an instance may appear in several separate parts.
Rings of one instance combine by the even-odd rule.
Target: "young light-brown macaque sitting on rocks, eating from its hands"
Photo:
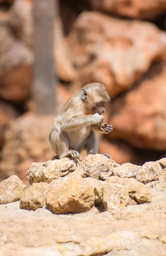
[[[49,132],[49,140],[57,156],[54,159],[72,157],[81,160],[80,152],[96,154],[96,131],[108,134],[112,125],[104,122],[103,113],[110,98],[106,87],[100,83],[86,84],[80,93],[68,99],[55,117]],[[109,154],[103,153],[110,159]]]

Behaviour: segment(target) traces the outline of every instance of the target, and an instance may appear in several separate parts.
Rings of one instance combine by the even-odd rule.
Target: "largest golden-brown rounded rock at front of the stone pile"
[[[46,197],[46,206],[54,213],[86,212],[93,205],[92,186],[80,175],[69,176]]]

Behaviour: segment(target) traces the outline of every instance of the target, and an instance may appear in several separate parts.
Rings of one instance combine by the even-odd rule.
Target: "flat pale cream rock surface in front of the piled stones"
[[[1,255],[165,256],[166,193],[151,193],[152,203],[111,212],[56,215],[19,209],[19,202],[0,205]]]

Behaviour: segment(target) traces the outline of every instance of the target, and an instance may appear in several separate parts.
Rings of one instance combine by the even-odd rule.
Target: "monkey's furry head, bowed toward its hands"
[[[88,114],[103,115],[106,103],[110,101],[107,89],[103,84],[86,84],[81,91],[81,99],[85,103]]]

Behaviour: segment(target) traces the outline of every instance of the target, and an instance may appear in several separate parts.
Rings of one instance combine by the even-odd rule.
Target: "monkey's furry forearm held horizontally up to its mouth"
[[[87,116],[72,116],[62,123],[61,129],[63,131],[73,131],[83,126],[101,125],[103,121],[103,116],[100,116],[98,113]]]

